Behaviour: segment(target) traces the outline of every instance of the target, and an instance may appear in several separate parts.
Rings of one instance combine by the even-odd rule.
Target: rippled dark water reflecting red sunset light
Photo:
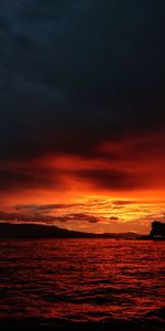
[[[165,242],[0,241],[0,327],[165,330],[164,258]]]

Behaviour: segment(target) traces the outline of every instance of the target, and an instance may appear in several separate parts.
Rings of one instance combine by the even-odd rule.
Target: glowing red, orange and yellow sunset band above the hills
[[[148,233],[165,210],[163,145],[163,135],[147,134],[102,141],[88,157],[56,152],[4,162],[1,171],[9,168],[11,175],[1,196],[1,221]]]

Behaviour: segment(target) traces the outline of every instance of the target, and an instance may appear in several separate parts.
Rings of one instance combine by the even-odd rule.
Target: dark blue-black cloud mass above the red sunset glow
[[[162,1],[0,1],[0,154],[164,126]],[[148,115],[150,113],[150,115]]]

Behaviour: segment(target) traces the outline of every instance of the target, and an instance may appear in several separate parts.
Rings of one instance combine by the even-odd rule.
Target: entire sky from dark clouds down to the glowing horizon
[[[0,221],[148,233],[165,211],[161,0],[0,0]]]

